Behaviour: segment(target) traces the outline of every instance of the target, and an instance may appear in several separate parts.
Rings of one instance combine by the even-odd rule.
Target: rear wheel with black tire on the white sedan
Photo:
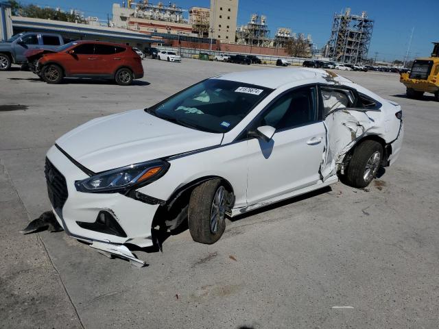
[[[375,158],[378,154],[379,158]],[[346,182],[357,188],[368,186],[377,175],[383,159],[383,147],[376,141],[363,141],[353,151],[345,174]],[[372,161],[371,161],[372,160]],[[369,169],[368,169],[369,168]],[[366,171],[368,171],[366,175]]]

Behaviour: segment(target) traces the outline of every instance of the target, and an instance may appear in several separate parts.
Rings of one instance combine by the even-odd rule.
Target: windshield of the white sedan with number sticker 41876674
[[[231,130],[272,91],[228,80],[208,79],[165,99],[147,112],[204,132]]]

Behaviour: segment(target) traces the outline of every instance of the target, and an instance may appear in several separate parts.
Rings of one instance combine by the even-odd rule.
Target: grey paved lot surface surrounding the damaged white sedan
[[[214,245],[182,232],[163,253],[137,252],[143,269],[64,232],[21,235],[49,210],[43,169],[56,138],[202,78],[261,69],[144,65],[129,87],[0,72],[1,328],[438,328],[439,103],[406,99],[395,73],[342,73],[403,107],[401,157],[366,189],[337,183],[252,212]]]

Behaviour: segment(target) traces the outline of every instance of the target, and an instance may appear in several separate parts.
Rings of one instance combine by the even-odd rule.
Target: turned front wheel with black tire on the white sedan
[[[215,195],[220,193],[219,191],[225,193],[222,206],[224,208],[218,208],[219,212],[222,213],[216,212],[217,224],[215,226],[212,221],[212,211],[215,209],[213,208],[213,202]],[[208,180],[193,189],[191,199],[189,200],[187,217],[189,232],[193,241],[211,245],[219,240],[226,229],[225,209],[227,196],[228,193],[221,180]],[[212,229],[211,226],[215,227],[215,229]]]

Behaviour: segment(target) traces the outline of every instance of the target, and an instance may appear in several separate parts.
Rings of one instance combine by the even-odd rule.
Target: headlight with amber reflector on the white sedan
[[[158,180],[169,169],[169,162],[153,160],[112,169],[75,182],[76,190],[86,193],[128,192]]]

